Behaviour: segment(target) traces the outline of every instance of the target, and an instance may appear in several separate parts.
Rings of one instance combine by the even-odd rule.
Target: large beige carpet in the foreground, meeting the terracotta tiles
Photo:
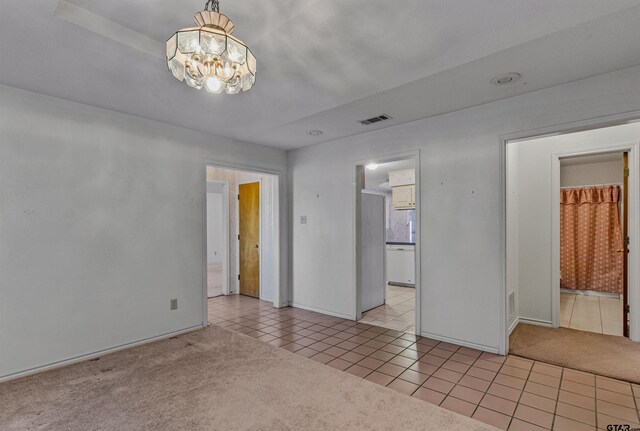
[[[493,430],[210,326],[0,384],[10,430]]]

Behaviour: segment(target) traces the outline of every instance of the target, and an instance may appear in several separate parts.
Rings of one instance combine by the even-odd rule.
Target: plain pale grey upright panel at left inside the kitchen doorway
[[[384,196],[362,193],[362,312],[385,301]]]

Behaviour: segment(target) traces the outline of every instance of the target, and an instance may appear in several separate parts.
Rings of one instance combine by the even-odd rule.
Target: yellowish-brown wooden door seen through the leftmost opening
[[[240,294],[260,297],[260,183],[240,184]]]

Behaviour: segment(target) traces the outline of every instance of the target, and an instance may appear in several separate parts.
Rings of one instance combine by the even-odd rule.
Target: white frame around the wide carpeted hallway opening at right
[[[517,141],[525,141],[531,140],[535,138],[542,138],[545,136],[553,136],[553,135],[565,135],[575,132],[583,132],[587,130],[595,130],[602,129],[606,127],[620,126],[623,124],[634,123],[640,121],[640,111],[629,111],[625,113],[608,115],[603,117],[589,118],[586,120],[578,120],[574,122],[564,123],[564,124],[555,124],[547,127],[540,127],[535,129],[528,130],[520,130],[509,132],[505,134],[501,134],[498,136],[499,143],[499,151],[500,151],[500,169],[498,171],[498,181],[500,184],[500,225],[502,229],[500,229],[500,249],[502,258],[500,259],[502,265],[501,278],[502,278],[502,289],[501,289],[501,297],[500,302],[502,304],[502,333],[504,334],[504,338],[502,340],[502,346],[500,346],[500,354],[506,355],[509,352],[509,335],[511,330],[517,326],[518,319],[520,316],[516,316],[516,322],[511,327],[509,326],[509,314],[508,314],[508,301],[507,295],[509,294],[509,285],[507,284],[507,145],[510,142]],[[637,171],[638,167],[635,166],[634,169]],[[637,178],[636,178],[637,181]],[[635,184],[636,190],[640,190],[639,184]],[[634,221],[636,224],[637,221]],[[638,226],[640,228],[640,226]],[[640,245],[639,245],[640,246]],[[629,268],[631,270],[631,268]],[[640,292],[639,292],[640,293]],[[631,338],[633,341],[640,341],[640,316],[637,316],[638,311],[640,311],[640,297],[632,297],[629,295],[629,303],[630,303],[630,337],[634,334],[634,337]],[[635,305],[634,305],[635,303]],[[636,309],[634,312],[633,310]],[[635,315],[636,317],[632,317]],[[633,320],[631,320],[633,318]]]

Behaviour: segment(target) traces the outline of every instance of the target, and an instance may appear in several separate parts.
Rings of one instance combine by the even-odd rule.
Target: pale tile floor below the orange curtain
[[[560,326],[622,336],[622,299],[561,293]]]

